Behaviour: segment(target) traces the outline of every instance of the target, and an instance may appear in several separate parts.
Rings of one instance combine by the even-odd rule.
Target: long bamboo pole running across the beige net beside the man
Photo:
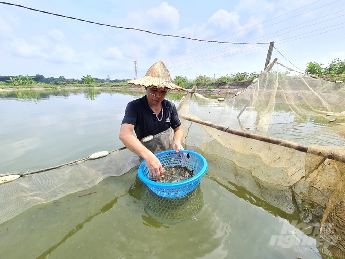
[[[208,127],[212,127],[212,128],[215,128],[216,130],[228,132],[228,133],[238,135],[241,137],[245,137],[245,138],[249,138],[249,139],[255,139],[255,140],[264,141],[267,143],[271,143],[271,144],[275,144],[275,145],[279,145],[279,146],[283,146],[283,147],[292,148],[292,149],[295,149],[295,150],[298,150],[298,151],[301,151],[304,153],[306,153],[308,151],[308,148],[309,148],[308,146],[300,145],[300,144],[297,144],[295,142],[288,141],[288,140],[281,140],[281,139],[276,139],[276,138],[272,138],[272,137],[261,136],[261,135],[254,134],[254,133],[237,131],[237,130],[233,130],[232,128],[228,128],[228,127],[214,124],[214,123],[209,122],[209,121],[203,121],[200,119],[195,119],[195,118],[191,118],[191,117],[184,116],[184,115],[179,115],[179,116],[182,119],[192,121],[192,122],[195,122],[195,123],[198,123],[201,125],[205,125]]]

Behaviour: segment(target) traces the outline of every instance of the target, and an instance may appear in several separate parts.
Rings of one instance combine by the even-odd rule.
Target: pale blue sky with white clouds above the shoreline
[[[5,1],[5,2],[9,2]],[[113,26],[211,41],[269,43],[294,66],[345,59],[344,0],[15,0]],[[171,77],[261,72],[269,44],[217,44],[99,26],[0,4],[0,75],[132,79],[162,60]],[[276,49],[278,58],[292,66]],[[295,67],[293,67],[295,68]]]

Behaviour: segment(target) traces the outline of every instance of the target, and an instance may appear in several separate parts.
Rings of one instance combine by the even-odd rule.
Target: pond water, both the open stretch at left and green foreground
[[[122,147],[118,133],[126,104],[142,95],[0,92],[0,173],[38,170]],[[175,103],[180,98],[168,96]],[[0,247],[7,247],[1,258],[321,258],[317,226],[243,187],[218,182],[217,172],[231,173],[236,166],[205,158],[209,170],[201,184],[181,199],[153,195],[133,168],[34,206],[0,224]]]

